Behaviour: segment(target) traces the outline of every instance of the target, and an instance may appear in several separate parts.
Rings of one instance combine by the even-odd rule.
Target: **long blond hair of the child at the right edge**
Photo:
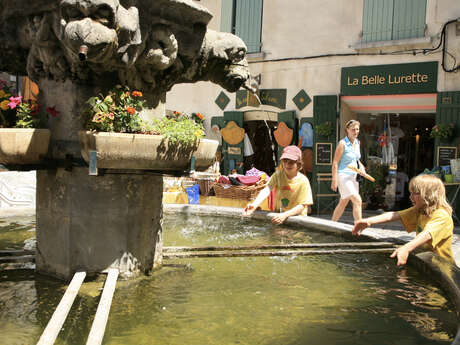
[[[434,175],[418,175],[410,180],[409,191],[420,194],[424,203],[421,211],[428,217],[439,208],[452,214],[452,207],[447,202],[446,189],[440,178]]]

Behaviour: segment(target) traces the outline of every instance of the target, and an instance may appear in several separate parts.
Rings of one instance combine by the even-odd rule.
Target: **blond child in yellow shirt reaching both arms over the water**
[[[414,206],[398,212],[386,212],[355,222],[352,233],[360,235],[372,224],[400,220],[407,232],[416,231],[415,238],[396,249],[391,257],[397,257],[398,266],[407,262],[409,253],[421,247],[438,254],[455,264],[452,255],[454,222],[452,208],[446,200],[442,181],[433,175],[419,175],[409,182],[410,199]]]

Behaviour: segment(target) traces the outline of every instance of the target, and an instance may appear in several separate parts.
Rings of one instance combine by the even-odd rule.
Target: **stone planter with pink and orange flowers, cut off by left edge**
[[[50,131],[45,128],[48,115],[57,113],[55,107],[42,111],[38,103],[24,101],[0,80],[0,163],[40,163],[48,152]]]

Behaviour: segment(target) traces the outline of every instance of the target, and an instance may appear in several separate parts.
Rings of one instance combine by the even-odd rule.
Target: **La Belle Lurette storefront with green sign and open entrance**
[[[410,178],[422,172],[443,177],[449,158],[457,158],[457,138],[431,134],[435,125],[446,121],[439,104],[447,100],[440,99],[437,80],[437,62],[342,68],[340,137],[349,119],[361,122],[362,161],[377,180],[361,186],[367,207],[392,210],[409,206]],[[451,121],[454,129],[457,116]],[[455,150],[444,150],[450,157],[440,160],[438,147]]]

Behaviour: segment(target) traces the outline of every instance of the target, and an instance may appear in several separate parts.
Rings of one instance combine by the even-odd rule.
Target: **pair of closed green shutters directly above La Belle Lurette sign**
[[[424,37],[426,0],[364,0],[363,42]]]

